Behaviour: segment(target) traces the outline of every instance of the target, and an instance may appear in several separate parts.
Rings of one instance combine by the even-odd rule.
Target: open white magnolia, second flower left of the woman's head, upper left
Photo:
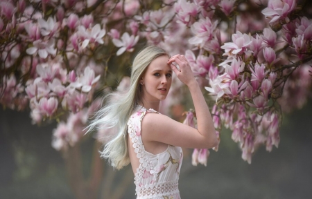
[[[87,47],[89,43],[104,44],[103,37],[106,31],[101,29],[100,24],[96,24],[93,28],[85,29],[85,26],[78,26],[78,34],[83,40],[82,48]]]

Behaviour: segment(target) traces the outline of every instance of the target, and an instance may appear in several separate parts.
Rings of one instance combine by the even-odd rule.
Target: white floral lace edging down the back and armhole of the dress
[[[139,113],[141,113],[141,115],[139,115],[139,121],[136,120],[136,117],[132,116],[128,121],[129,137],[131,139],[133,148],[135,148],[135,153],[137,153],[137,158],[139,158],[140,162],[139,168],[137,168],[137,173],[135,173],[135,185],[138,189],[136,189],[137,192],[140,191],[139,180],[143,178],[144,171],[146,170],[152,175],[153,173],[155,173],[154,165],[151,161],[148,161],[148,158],[146,158],[145,149],[141,140],[141,121],[143,120],[143,117],[146,113],[152,111],[154,112],[154,110],[146,110],[146,108],[143,108],[141,110],[143,111],[138,111]],[[154,113],[157,113],[157,111],[155,111]],[[137,135],[137,133],[139,133],[139,135]]]

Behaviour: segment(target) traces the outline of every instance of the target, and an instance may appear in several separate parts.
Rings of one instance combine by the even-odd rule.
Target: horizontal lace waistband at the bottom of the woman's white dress
[[[143,197],[147,196],[148,198],[150,197],[155,197],[155,196],[164,196],[164,195],[175,195],[179,192],[178,189],[178,182],[164,182],[163,184],[156,184],[154,187],[150,188],[145,188],[141,189],[138,193],[138,197]]]

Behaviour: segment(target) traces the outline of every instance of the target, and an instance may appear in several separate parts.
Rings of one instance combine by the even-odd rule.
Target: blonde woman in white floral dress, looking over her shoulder
[[[179,69],[173,64],[179,65]],[[189,87],[198,128],[176,122],[158,113],[166,98],[172,75]],[[113,93],[96,115],[96,125],[115,129],[118,134],[105,145],[101,156],[121,169],[131,162],[137,198],[180,198],[177,188],[182,150],[216,146],[216,133],[209,109],[187,59],[170,57],[157,46],[141,50],[132,64],[130,90],[126,96]]]

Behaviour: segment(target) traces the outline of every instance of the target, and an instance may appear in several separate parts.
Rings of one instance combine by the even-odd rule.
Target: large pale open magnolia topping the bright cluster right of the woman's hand
[[[232,35],[232,41],[233,42],[227,42],[223,46],[221,46],[222,49],[225,49],[224,55],[230,55],[230,53],[234,55],[243,53],[252,43],[249,35],[242,34],[239,31],[236,31],[236,34]]]

